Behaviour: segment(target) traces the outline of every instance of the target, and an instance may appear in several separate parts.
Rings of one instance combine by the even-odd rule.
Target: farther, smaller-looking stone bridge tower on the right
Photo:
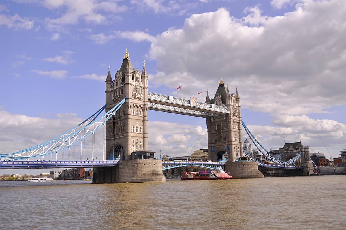
[[[220,80],[215,96],[210,100],[208,92],[206,103],[227,106],[229,115],[216,115],[207,118],[209,160],[233,162],[243,156],[242,113],[238,89],[230,94],[228,85]]]

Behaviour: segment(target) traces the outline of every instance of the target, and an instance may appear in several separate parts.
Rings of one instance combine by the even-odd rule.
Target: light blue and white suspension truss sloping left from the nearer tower
[[[57,136],[52,140],[46,141],[42,144],[36,145],[34,147],[19,152],[0,154],[0,157],[6,157],[8,159],[29,159],[33,157],[43,157],[52,153],[56,153],[58,151],[62,151],[64,149],[68,149],[70,151],[72,145],[82,142],[86,137],[92,135],[96,130],[98,130],[100,127],[106,124],[106,122],[113,115],[115,115],[115,113],[118,111],[121,105],[124,104],[125,100],[126,97],[97,120],[95,120],[94,117],[90,117],[91,119],[88,118],[78,126],[65,132],[62,135]],[[103,106],[102,108],[105,108],[105,106]],[[97,113],[100,114],[101,112],[102,111]],[[97,113],[95,113],[94,115],[96,115]]]

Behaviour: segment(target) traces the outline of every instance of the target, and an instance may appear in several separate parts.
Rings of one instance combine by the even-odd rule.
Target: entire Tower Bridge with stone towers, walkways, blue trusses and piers
[[[161,160],[138,159],[140,156],[153,156],[148,151],[148,109],[162,112],[183,114],[206,118],[208,130],[208,164],[200,162],[186,163],[206,168],[223,167],[231,172],[234,178],[263,177],[258,167],[292,168],[309,171],[304,163],[309,161],[308,153],[299,153],[286,161],[280,160],[266,151],[254,138],[242,121],[240,96],[238,89],[231,94],[228,85],[221,79],[216,93],[210,99],[208,91],[204,102],[197,101],[194,96],[189,99],[148,92],[148,75],[143,62],[143,70],[134,69],[129,54],[125,53],[120,69],[111,76],[110,66],[106,78],[106,105],[98,112],[74,127],[70,131],[42,144],[15,153],[1,154],[1,158],[13,161],[1,161],[1,168],[40,168],[40,167],[94,167],[94,183],[116,182],[162,182],[165,180],[162,170],[167,167],[179,167],[177,163]],[[100,116],[105,109],[106,114]],[[258,163],[245,151],[243,153],[242,126],[261,153],[275,165]],[[85,161],[82,159],[82,143],[103,127],[104,150],[102,161]],[[80,160],[75,160],[74,146],[80,143]],[[84,141],[85,143],[85,141]],[[73,147],[73,160],[72,149]],[[262,150],[261,150],[262,148]],[[68,161],[64,160],[68,154]],[[62,153],[62,161],[57,160],[57,153]],[[56,160],[52,161],[55,153]],[[244,154],[250,160],[239,161]],[[304,155],[305,161],[297,161]],[[44,156],[51,156],[51,161],[43,161]],[[30,158],[41,157],[41,161]],[[92,152],[94,158],[94,149]],[[84,161],[83,161],[84,160]],[[295,165],[297,162],[300,165]],[[181,166],[181,165],[180,165]],[[306,165],[305,165],[306,166]]]

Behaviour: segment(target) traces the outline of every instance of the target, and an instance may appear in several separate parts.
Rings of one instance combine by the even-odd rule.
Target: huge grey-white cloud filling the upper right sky
[[[238,86],[243,107],[273,115],[345,105],[345,11],[344,1],[333,0],[306,1],[277,17],[262,16],[258,6],[240,19],[224,8],[194,14],[155,37],[147,56],[157,73],[149,83],[177,95],[181,82],[184,97],[209,89],[212,98],[222,77],[231,92]]]

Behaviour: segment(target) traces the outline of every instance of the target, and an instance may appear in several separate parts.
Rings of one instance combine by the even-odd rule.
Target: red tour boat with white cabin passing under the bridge
[[[215,171],[203,172],[183,172],[181,175],[182,180],[226,180],[232,179],[223,169],[216,169]]]

